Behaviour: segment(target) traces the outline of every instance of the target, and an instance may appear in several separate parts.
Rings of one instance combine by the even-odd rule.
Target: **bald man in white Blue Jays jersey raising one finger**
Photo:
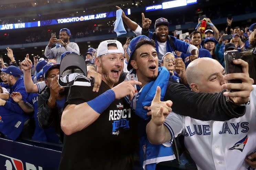
[[[250,81],[248,64],[240,59],[239,63],[244,73],[236,73],[237,78],[245,82]],[[186,69],[187,81],[191,89],[198,93],[221,92],[225,83],[224,75],[223,66],[211,58],[193,60]],[[237,84],[237,89],[240,88],[242,89],[242,86]],[[253,160],[247,160],[247,163],[244,160],[256,148],[256,85],[253,85],[253,88],[250,93],[251,104],[246,105],[246,112],[240,118],[225,122],[201,121],[171,112],[162,125],[154,126],[152,121],[148,123],[148,139],[153,144],[162,144],[172,140],[173,137],[184,135],[184,144],[198,170],[246,170],[249,167],[247,161]],[[154,113],[153,107],[151,105],[151,120],[162,119],[160,111]]]

